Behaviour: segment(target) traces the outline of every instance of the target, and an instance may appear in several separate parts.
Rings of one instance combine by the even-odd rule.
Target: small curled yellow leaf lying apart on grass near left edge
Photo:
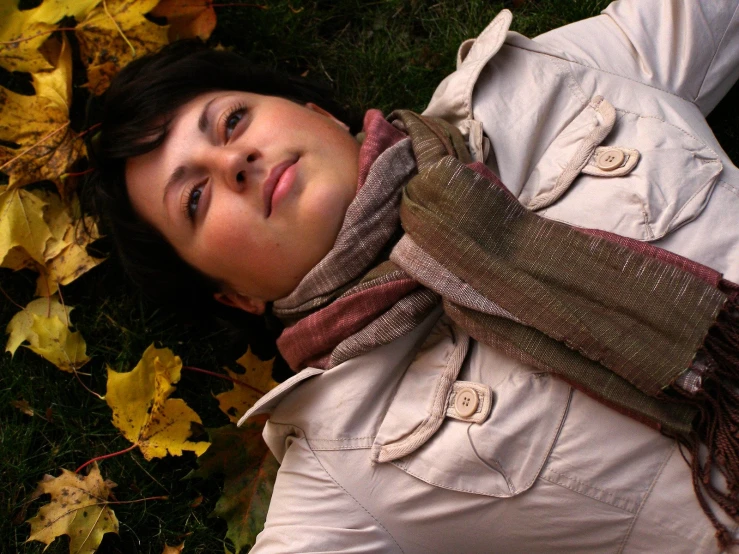
[[[56,297],[37,298],[10,320],[6,332],[10,334],[5,351],[15,354],[23,342],[27,347],[70,373],[85,365],[87,345],[79,331],[69,328],[71,306],[63,306]]]

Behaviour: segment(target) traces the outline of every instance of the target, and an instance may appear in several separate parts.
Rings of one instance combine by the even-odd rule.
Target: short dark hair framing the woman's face
[[[87,204],[100,215],[126,273],[143,292],[157,302],[184,307],[192,315],[218,309],[212,299],[218,283],[180,259],[162,235],[136,214],[126,190],[125,163],[162,144],[178,108],[215,90],[314,102],[354,132],[361,124],[325,88],[255,67],[239,54],[212,50],[200,41],[170,44],[135,60],[113,79],[104,96],[100,130],[88,143],[93,169],[85,184]]]

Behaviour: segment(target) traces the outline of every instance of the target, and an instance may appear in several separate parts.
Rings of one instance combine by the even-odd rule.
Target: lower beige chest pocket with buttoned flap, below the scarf
[[[454,339],[437,339],[409,367],[380,425],[373,459],[437,487],[515,496],[531,487],[546,463],[564,421],[570,388],[474,341],[464,364],[459,360],[446,377],[439,370],[431,386],[428,368],[448,368],[454,346],[465,339],[454,332]],[[419,389],[435,392],[419,394]],[[444,401],[434,406],[432,398],[440,394]],[[479,401],[477,414],[465,412],[465,395],[475,405]],[[455,405],[462,413],[455,413]],[[429,419],[438,423],[433,432],[419,433]]]

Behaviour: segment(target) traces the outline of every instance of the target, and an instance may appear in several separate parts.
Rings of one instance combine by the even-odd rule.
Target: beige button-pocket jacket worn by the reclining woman
[[[704,114],[737,77],[738,6],[614,3],[535,40],[504,11],[426,113],[531,209],[737,281],[739,170]],[[257,413],[282,466],[256,554],[717,551],[672,440],[439,314]]]

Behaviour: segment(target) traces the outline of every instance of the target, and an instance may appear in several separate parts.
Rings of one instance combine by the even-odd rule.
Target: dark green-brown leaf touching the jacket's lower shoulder
[[[262,439],[266,418],[254,418],[242,427],[209,429],[211,446],[198,458],[198,469],[186,479],[223,475],[223,494],[211,516],[226,521],[226,538],[238,554],[254,544],[264,528],[279,463]]]

